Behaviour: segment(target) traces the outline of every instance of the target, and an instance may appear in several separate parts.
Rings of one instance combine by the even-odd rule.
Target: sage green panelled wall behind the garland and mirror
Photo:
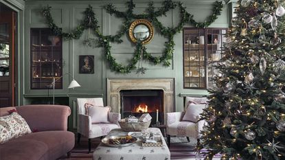
[[[102,9],[103,5],[113,2],[118,10],[126,10],[126,1],[26,1],[25,2],[25,27],[24,27],[24,54],[21,56],[23,60],[23,104],[29,103],[30,98],[34,96],[46,96],[47,90],[31,90],[30,89],[30,28],[31,27],[47,27],[45,25],[45,19],[41,16],[41,8],[49,5],[52,7],[52,16],[56,24],[62,27],[64,32],[71,31],[75,26],[80,23],[83,17],[82,12],[90,4],[96,14],[96,17],[101,26],[100,30],[104,35],[115,34],[122,24],[122,19],[117,19],[115,16],[111,16]],[[142,13],[148,6],[146,1],[134,1],[136,4],[136,13]],[[155,7],[161,6],[162,1],[155,1]],[[212,12],[212,3],[214,1],[183,1],[187,7],[187,11],[194,14],[196,21],[205,21],[206,17]],[[231,16],[231,6],[225,5],[222,15],[209,27],[228,27],[229,15]],[[167,16],[159,17],[159,20],[166,26],[175,26],[179,21],[179,11],[172,10],[168,12]],[[191,27],[189,25],[185,27]],[[157,32],[156,32],[157,33]],[[76,89],[67,89],[71,78],[64,77],[64,84],[62,90],[56,90],[57,96],[71,96],[70,102],[77,96],[104,96],[104,102],[106,102],[106,78],[174,78],[175,79],[175,95],[174,102],[176,105],[176,111],[183,110],[183,98],[179,96],[180,93],[186,94],[206,94],[205,90],[195,89],[183,89],[183,45],[182,45],[182,32],[174,36],[174,42],[176,43],[173,60],[170,67],[163,67],[162,65],[152,65],[148,62],[144,62],[144,67],[148,70],[144,75],[138,75],[135,72],[129,74],[115,73],[109,69],[109,65],[104,60],[102,48],[85,47],[82,44],[86,36],[84,32],[83,36],[78,40],[63,41],[63,60],[64,60],[64,73],[72,73],[76,80],[82,87]],[[96,38],[94,35],[91,37]],[[128,58],[132,56],[134,51],[134,45],[130,43],[127,36],[123,38],[124,43],[113,44],[112,54],[118,62],[125,63]],[[161,35],[155,34],[155,38],[147,45],[148,52],[152,52],[157,55],[161,55],[164,48],[164,39]],[[94,74],[79,74],[78,58],[80,55],[94,55],[95,56],[95,73]]]

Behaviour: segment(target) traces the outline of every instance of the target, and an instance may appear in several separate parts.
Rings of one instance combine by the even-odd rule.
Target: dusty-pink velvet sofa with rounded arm
[[[0,116],[8,115],[15,107],[0,108]],[[67,154],[74,147],[74,134],[67,131],[69,106],[26,105],[16,111],[33,133],[0,144],[1,160],[53,160]]]

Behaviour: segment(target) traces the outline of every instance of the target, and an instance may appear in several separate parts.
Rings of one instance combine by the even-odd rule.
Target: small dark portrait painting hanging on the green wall
[[[86,73],[86,74],[94,73],[94,56],[93,55],[79,56],[79,73]]]

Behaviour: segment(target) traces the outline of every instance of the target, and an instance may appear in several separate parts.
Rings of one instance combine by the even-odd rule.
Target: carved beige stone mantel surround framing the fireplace
[[[161,89],[163,91],[164,115],[175,111],[174,108],[174,79],[107,79],[107,104],[112,111],[119,113],[122,90]]]

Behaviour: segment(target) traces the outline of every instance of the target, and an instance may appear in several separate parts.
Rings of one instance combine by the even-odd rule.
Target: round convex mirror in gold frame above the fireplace
[[[146,19],[137,19],[133,21],[128,29],[128,36],[130,36],[130,41],[133,43],[141,41],[143,45],[148,44],[154,35],[153,26],[150,21]]]

